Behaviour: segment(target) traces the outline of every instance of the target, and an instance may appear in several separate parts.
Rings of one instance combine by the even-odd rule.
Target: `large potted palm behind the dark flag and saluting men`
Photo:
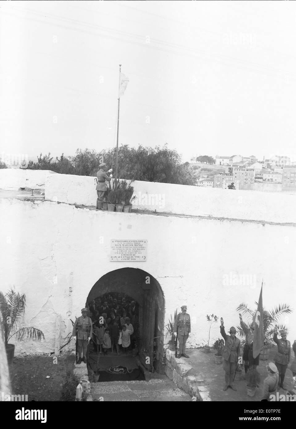
[[[258,304],[255,302],[256,310],[251,310],[249,308],[248,304],[245,302],[242,302],[238,308],[236,309],[239,312],[242,312],[242,314],[245,314],[250,317],[250,320],[248,322],[248,325],[250,326],[254,314],[257,311]],[[280,304],[276,306],[275,308],[272,308],[270,311],[266,310],[263,307],[263,332],[264,332],[264,346],[260,352],[260,360],[268,360],[269,358],[269,350],[272,347],[272,337],[273,332],[275,329],[275,324],[279,325],[279,320],[284,314],[290,314],[292,313],[292,309],[290,308],[290,305],[288,304]],[[237,326],[236,329],[239,331],[239,335],[241,337],[244,337],[245,334],[242,330],[242,326]],[[285,329],[288,331],[287,326],[280,324],[278,329]]]

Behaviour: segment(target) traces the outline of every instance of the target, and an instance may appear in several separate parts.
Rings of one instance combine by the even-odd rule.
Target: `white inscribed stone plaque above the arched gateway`
[[[143,262],[147,259],[148,240],[111,240],[110,261]]]

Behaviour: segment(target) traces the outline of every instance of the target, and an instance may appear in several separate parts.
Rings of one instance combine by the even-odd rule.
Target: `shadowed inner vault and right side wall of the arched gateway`
[[[94,284],[86,302],[106,293],[126,294],[138,303],[140,360],[147,367],[149,357],[150,368],[163,372],[164,296],[158,281],[142,269],[116,269]]]

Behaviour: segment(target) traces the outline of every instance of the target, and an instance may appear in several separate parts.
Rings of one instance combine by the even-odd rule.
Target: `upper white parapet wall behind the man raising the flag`
[[[269,222],[296,222],[294,195],[250,190],[221,190],[198,186],[135,181],[134,207],[160,213],[211,216]],[[96,205],[94,177],[47,175],[45,199],[77,205]]]

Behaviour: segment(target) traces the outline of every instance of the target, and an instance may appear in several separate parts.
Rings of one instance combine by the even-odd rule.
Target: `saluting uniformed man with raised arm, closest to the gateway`
[[[222,356],[224,357],[223,369],[225,371],[226,385],[223,390],[227,390],[228,387],[236,390],[236,388],[233,386],[233,380],[241,352],[241,341],[239,338],[236,338],[236,328],[234,326],[231,326],[229,330],[230,335],[226,335],[222,317],[220,318],[220,321],[220,333],[225,340]]]

